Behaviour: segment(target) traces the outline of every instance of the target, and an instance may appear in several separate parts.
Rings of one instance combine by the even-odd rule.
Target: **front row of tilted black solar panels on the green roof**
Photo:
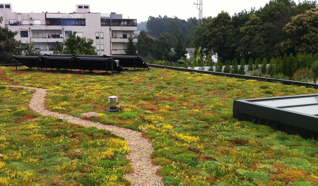
[[[125,71],[112,58],[76,57],[72,55],[50,56],[13,56],[13,58],[27,67],[77,69],[123,72]]]

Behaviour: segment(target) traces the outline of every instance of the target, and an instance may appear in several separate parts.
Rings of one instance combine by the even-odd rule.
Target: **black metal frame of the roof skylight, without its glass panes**
[[[299,134],[304,138],[312,138],[315,136],[318,137],[318,116],[289,111],[278,107],[265,106],[253,102],[260,100],[303,98],[317,95],[318,94],[310,94],[300,96],[234,100],[233,117],[241,120],[251,121],[256,124],[269,125],[274,129],[285,131],[288,134]]]

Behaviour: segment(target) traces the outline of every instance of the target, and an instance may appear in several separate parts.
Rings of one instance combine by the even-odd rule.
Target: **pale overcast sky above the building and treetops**
[[[233,15],[241,10],[258,9],[269,0],[203,0],[203,16],[216,16],[225,10]],[[303,0],[301,0],[303,1]],[[90,4],[91,12],[123,14],[123,18],[137,19],[137,22],[148,20],[149,16],[169,17],[180,19],[198,17],[197,0],[54,0],[54,1],[21,1],[10,0],[14,12],[58,12],[70,13],[76,4]]]

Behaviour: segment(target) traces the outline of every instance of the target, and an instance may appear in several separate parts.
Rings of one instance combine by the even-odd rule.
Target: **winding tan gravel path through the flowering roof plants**
[[[31,110],[38,112],[43,116],[56,116],[60,119],[65,119],[70,123],[79,125],[93,126],[99,129],[111,131],[117,136],[125,138],[130,148],[130,155],[127,158],[134,169],[134,173],[126,174],[125,178],[131,182],[133,186],[163,186],[161,177],[156,174],[160,166],[154,166],[151,163],[150,154],[153,151],[151,142],[142,137],[142,133],[126,128],[121,128],[112,125],[102,125],[92,121],[80,119],[68,114],[61,114],[58,112],[51,112],[45,109],[44,99],[47,90],[43,88],[25,87],[25,86],[7,86],[7,87],[22,87],[36,90],[30,100],[29,107]]]

